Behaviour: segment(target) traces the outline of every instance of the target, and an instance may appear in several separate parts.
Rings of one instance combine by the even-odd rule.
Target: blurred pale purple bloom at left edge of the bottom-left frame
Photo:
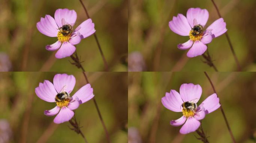
[[[0,119],[0,143],[9,143],[12,136],[10,124],[5,119]]]

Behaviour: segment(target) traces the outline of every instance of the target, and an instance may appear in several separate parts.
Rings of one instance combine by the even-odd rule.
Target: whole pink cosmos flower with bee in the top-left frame
[[[68,9],[57,9],[54,18],[45,15],[40,22],[36,23],[37,29],[44,35],[57,37],[58,41],[52,45],[46,45],[46,50],[57,51],[56,58],[65,58],[76,51],[74,45],[79,44],[81,39],[94,34],[94,23],[91,19],[82,22],[76,29],[73,28],[76,22],[76,12]]]

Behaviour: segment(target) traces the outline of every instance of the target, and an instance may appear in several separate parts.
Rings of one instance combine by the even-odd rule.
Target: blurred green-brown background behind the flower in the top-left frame
[[[127,0],[83,0],[95,23],[96,34],[110,71],[127,71]],[[74,9],[76,26],[88,19],[79,0],[1,0],[0,52],[9,55],[11,71],[80,71],[70,57],[57,59],[56,51],[45,49],[57,38],[41,34],[36,23],[59,8]],[[94,36],[77,45],[86,71],[104,71],[104,64]]]

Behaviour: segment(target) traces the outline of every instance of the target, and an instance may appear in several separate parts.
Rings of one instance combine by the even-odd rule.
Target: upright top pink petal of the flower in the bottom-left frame
[[[54,87],[59,93],[61,89],[65,86],[65,91],[71,93],[76,84],[76,78],[73,75],[67,74],[56,74],[54,76]]]

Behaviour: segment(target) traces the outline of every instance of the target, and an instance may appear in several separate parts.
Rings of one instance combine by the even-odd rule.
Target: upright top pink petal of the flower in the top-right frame
[[[190,24],[190,26],[194,27],[194,19],[196,19],[196,24],[205,26],[207,20],[209,18],[209,13],[206,9],[200,9],[200,8],[190,8],[187,11],[187,19]]]

